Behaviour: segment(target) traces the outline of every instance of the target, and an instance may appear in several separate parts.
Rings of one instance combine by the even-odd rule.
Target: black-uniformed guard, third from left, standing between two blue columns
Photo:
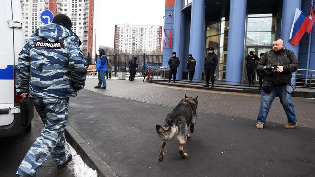
[[[216,72],[216,67],[218,64],[218,56],[214,53],[214,48],[210,47],[208,54],[205,56],[205,75],[206,75],[206,85],[204,87],[209,87],[209,80],[211,77],[211,88],[214,84],[214,73]]]

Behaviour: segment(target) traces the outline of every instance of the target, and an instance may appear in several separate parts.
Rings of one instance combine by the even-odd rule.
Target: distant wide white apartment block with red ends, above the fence
[[[114,48],[118,52],[135,53],[161,50],[162,26],[115,25]]]

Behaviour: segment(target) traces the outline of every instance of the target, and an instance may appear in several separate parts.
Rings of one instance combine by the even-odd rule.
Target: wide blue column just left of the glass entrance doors
[[[227,84],[240,84],[242,82],[246,1],[230,0],[229,38],[225,77]]]

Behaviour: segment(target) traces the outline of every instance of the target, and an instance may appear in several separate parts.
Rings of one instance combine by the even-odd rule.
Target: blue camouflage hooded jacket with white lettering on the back
[[[36,98],[68,98],[84,87],[87,62],[79,38],[62,25],[36,29],[19,54],[16,92]]]

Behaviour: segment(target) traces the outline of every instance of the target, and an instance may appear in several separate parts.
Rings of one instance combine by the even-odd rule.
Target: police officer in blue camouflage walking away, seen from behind
[[[68,16],[56,15],[52,23],[36,29],[19,54],[16,92],[33,99],[44,129],[20,164],[18,176],[36,176],[49,155],[57,168],[72,159],[64,147],[68,102],[84,87],[87,63],[71,26]]]

